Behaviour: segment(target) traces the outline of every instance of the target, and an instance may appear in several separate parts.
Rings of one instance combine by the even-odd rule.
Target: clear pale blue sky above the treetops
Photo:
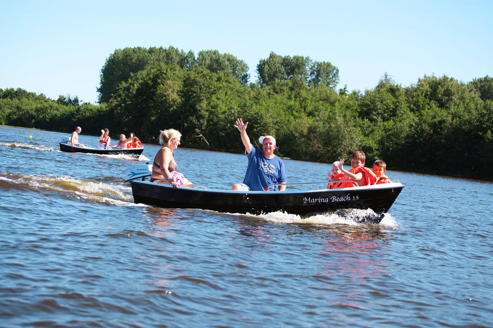
[[[229,52],[250,67],[271,51],[339,68],[349,90],[385,72],[409,86],[424,74],[493,76],[493,1],[0,0],[0,88],[95,103],[115,49],[170,45]]]

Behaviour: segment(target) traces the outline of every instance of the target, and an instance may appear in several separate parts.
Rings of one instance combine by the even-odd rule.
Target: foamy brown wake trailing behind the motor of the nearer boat
[[[132,189],[101,181],[76,179],[57,175],[21,175],[0,173],[0,188],[31,192],[53,192],[67,199],[77,199],[116,206],[147,206],[135,204]]]

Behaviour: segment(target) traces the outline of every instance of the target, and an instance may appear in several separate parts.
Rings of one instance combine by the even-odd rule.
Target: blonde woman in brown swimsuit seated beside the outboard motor
[[[159,144],[163,145],[157,152],[152,164],[151,182],[168,185],[168,181],[174,188],[186,187],[193,188],[193,184],[188,181],[183,174],[176,171],[178,168],[173,150],[180,144],[181,133],[174,130],[164,130],[159,133]],[[161,179],[167,179],[162,180]]]

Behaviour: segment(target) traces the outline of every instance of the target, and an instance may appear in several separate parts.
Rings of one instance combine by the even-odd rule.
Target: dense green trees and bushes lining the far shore
[[[493,180],[493,78],[464,83],[446,75],[403,87],[387,73],[375,88],[337,89],[329,62],[271,53],[248,83],[243,60],[217,50],[117,49],[101,69],[99,104],[0,89],[0,125],[71,133],[76,126],[134,132],[156,143],[159,130],[182,133],[182,145],[242,153],[234,121],[256,136],[273,135],[279,157],[332,163],[357,149],[366,166]]]

